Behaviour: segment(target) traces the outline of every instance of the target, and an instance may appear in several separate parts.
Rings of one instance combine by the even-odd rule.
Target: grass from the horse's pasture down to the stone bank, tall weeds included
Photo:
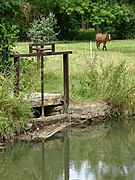
[[[111,99],[127,104],[135,94],[134,40],[107,42],[107,51],[97,50],[95,42],[92,43],[92,48],[91,60],[90,42],[56,42],[56,51],[73,51],[73,54],[69,55],[70,100],[86,102]],[[28,43],[18,43],[17,50],[28,53]],[[63,94],[62,76],[62,56],[45,57],[45,92]],[[40,72],[36,77],[38,80],[33,90],[40,91]],[[134,101],[134,98],[132,99]]]

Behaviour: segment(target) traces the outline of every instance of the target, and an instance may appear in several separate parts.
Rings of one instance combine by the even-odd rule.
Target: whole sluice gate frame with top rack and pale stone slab
[[[36,52],[35,52],[36,51]],[[21,57],[37,57],[41,64],[41,92],[33,93],[29,101],[33,107],[41,106],[41,116],[45,116],[44,107],[49,105],[63,104],[64,112],[67,112],[69,106],[69,68],[68,68],[68,55],[72,54],[72,51],[55,51],[55,43],[37,43],[29,44],[28,54],[14,54],[11,57],[14,58],[14,68],[16,72],[14,95],[19,94],[19,81],[20,81],[20,63]],[[63,79],[64,79],[64,96],[60,94],[49,94],[44,91],[44,57],[52,55],[63,56]]]

